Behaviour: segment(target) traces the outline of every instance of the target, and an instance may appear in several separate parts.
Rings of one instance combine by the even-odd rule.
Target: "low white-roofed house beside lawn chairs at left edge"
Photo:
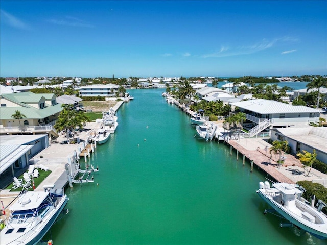
[[[49,146],[48,135],[0,135],[0,188],[21,175],[29,159]]]

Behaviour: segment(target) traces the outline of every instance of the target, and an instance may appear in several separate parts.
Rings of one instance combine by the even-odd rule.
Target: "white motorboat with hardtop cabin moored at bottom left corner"
[[[19,195],[10,207],[10,216],[0,232],[0,244],[38,243],[49,231],[68,202],[63,190],[55,185],[43,186],[44,191],[28,191]]]

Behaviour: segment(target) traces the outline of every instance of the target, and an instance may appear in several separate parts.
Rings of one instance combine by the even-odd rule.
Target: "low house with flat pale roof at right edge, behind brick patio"
[[[293,155],[303,150],[312,153],[315,149],[317,159],[327,164],[327,146],[323,143],[327,142],[327,127],[302,125],[272,129],[270,139],[287,140]]]

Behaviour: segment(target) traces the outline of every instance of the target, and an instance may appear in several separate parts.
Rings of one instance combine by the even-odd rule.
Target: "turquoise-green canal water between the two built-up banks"
[[[189,117],[162,89],[130,90],[119,126],[89,164],[94,183],[67,189],[69,214],[54,244],[325,244],[281,220],[256,194],[250,173],[223,143],[197,139]],[[81,159],[81,163],[84,159]]]

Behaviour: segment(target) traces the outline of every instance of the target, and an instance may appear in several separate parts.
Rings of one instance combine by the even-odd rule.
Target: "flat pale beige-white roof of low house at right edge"
[[[310,145],[316,150],[327,153],[327,146],[322,142],[327,141],[327,127],[293,126],[288,128],[273,129],[286,137],[299,143]]]

